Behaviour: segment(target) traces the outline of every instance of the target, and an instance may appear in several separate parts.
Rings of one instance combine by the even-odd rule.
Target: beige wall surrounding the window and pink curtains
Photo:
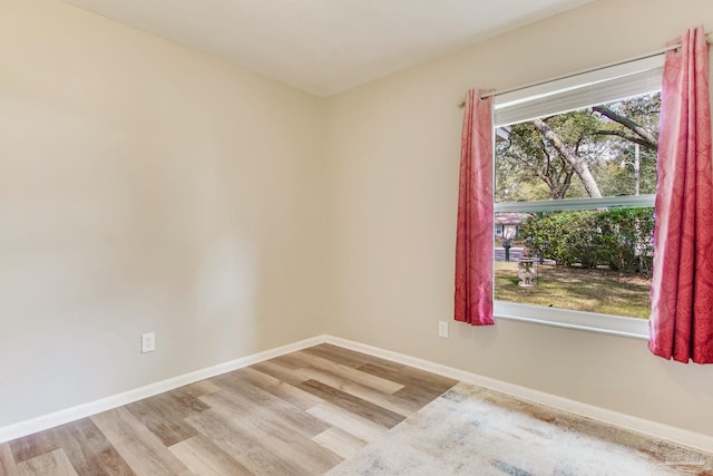
[[[597,0],[330,98],[328,332],[713,435],[713,366],[664,361],[643,340],[451,321],[465,91],[629,58],[699,23],[713,29],[710,0]]]

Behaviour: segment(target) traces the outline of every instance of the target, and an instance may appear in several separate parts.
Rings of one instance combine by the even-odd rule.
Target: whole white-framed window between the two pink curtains
[[[496,315],[647,336],[662,68],[496,98]]]

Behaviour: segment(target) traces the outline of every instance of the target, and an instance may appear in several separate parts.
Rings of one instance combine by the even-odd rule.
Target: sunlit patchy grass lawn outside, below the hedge
[[[495,299],[648,319],[651,279],[608,270],[537,266],[537,285],[518,285],[517,263],[495,263]]]

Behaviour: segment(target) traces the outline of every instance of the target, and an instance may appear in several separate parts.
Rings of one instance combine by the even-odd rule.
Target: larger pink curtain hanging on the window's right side
[[[713,363],[713,164],[703,27],[666,52],[651,290],[651,351]]]

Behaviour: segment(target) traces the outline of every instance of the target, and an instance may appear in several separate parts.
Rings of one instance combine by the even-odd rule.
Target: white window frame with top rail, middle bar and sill
[[[656,55],[497,95],[494,106],[494,134],[496,134],[498,127],[508,124],[531,120],[549,114],[561,114],[661,90],[663,60],[663,55]],[[494,153],[494,161],[496,159]],[[533,202],[495,202],[494,211],[495,213],[527,213],[615,206],[653,207],[655,195]],[[595,202],[596,205],[593,204],[593,202]],[[648,339],[647,319],[544,308],[497,300],[495,301],[495,315],[499,319],[512,319],[635,339]]]

